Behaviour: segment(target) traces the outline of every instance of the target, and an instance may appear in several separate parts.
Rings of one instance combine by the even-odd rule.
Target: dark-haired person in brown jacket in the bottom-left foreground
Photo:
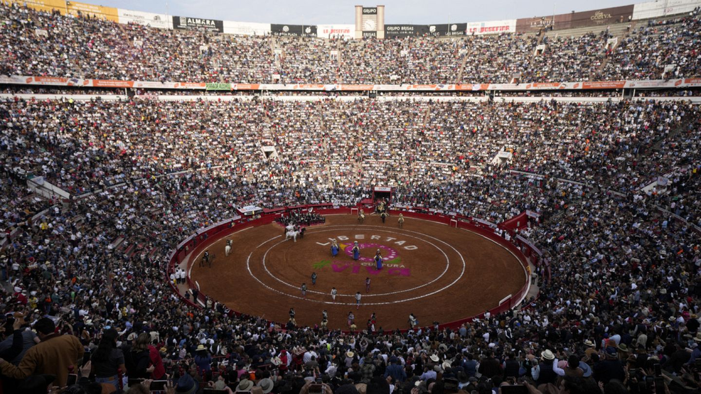
[[[0,371],[15,379],[25,379],[32,374],[52,374],[56,376],[57,386],[66,386],[68,367],[73,365],[77,374],[83,360],[85,349],[81,341],[74,335],[55,334],[56,325],[50,318],[37,320],[34,329],[41,342],[29,348],[17,367],[0,358]]]

